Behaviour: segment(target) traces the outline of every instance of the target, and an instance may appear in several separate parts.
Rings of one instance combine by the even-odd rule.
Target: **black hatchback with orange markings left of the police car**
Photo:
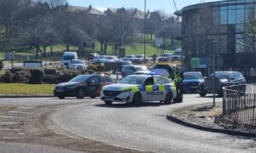
[[[96,98],[101,94],[102,87],[113,83],[113,79],[101,75],[80,75],[74,77],[69,82],[62,82],[55,86],[54,94],[59,99],[65,97],[84,97]]]

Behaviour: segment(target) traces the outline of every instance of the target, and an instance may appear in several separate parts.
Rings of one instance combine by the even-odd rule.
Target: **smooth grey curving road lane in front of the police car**
[[[218,101],[221,99],[218,99]],[[256,152],[255,139],[210,133],[166,120],[166,114],[186,105],[210,102],[186,94],[182,104],[103,105],[100,99],[56,112],[51,120],[88,139],[154,152]]]

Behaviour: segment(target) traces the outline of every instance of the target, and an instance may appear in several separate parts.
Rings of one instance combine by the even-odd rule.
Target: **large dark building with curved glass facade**
[[[183,8],[186,71],[241,71],[256,78],[256,0],[200,3]]]

